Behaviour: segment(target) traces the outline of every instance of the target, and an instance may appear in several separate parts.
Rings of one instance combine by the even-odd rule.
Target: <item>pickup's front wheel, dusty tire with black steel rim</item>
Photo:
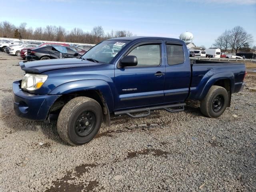
[[[102,119],[102,108],[96,100],[76,97],[60,111],[57,121],[58,134],[70,145],[85,144],[96,136]]]

